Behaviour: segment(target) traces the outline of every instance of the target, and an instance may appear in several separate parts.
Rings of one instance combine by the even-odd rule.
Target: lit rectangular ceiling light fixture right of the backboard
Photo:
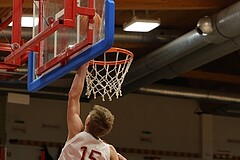
[[[129,23],[123,25],[123,30],[129,32],[149,32],[157,28],[159,25],[160,19],[137,19],[137,17],[133,17]]]

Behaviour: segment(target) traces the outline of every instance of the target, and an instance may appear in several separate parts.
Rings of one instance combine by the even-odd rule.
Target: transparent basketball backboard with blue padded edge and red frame
[[[112,0],[34,1],[35,49],[28,56],[28,91],[37,91],[111,48]],[[36,43],[35,42],[35,43]]]

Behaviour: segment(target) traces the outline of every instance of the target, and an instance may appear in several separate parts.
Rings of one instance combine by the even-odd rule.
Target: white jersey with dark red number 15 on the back
[[[66,142],[58,160],[110,160],[110,147],[90,133],[80,132]]]

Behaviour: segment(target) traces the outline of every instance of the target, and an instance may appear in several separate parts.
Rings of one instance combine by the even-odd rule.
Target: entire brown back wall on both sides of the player
[[[130,160],[240,156],[240,119],[196,115],[194,100],[139,94],[112,102],[97,99],[81,103],[83,119],[94,104],[106,106],[115,115],[114,128],[104,139]],[[56,159],[57,144],[67,136],[66,106],[63,100],[41,98],[31,98],[29,105],[7,103],[8,160],[39,159],[42,142]]]

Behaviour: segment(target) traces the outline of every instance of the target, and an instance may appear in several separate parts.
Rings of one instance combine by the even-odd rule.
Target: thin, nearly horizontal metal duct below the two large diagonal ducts
[[[220,102],[220,103],[240,103],[239,94],[215,92],[201,89],[191,89],[184,87],[173,87],[168,85],[152,85],[149,87],[141,87],[136,93],[157,95],[157,96],[171,96],[180,98],[189,98],[204,100],[205,102]]]

